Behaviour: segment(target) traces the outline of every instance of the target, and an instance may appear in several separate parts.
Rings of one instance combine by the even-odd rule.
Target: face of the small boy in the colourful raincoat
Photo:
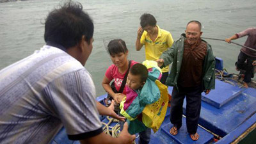
[[[132,90],[138,90],[139,88],[142,88],[145,82],[141,82],[140,75],[133,75],[131,72],[129,72],[126,84]]]

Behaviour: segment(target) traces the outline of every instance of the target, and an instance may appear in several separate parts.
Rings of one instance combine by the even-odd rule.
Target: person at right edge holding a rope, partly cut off
[[[244,61],[247,61],[246,67],[244,68],[244,87],[248,88],[248,83],[250,83],[251,78],[253,77],[254,68],[253,61],[256,60],[256,28],[248,28],[240,33],[236,33],[230,38],[226,38],[226,42],[231,43],[231,40],[236,40],[237,38],[241,38],[243,36],[248,36],[244,46],[251,47],[255,49],[252,51],[251,49],[247,49],[246,47],[242,47],[240,53],[237,58],[236,70],[243,69]]]

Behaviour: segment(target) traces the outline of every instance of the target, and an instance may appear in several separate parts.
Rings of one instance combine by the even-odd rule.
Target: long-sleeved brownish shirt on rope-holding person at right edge
[[[236,33],[237,38],[241,38],[243,36],[248,36],[244,46],[251,47],[256,50],[256,28],[248,28],[240,33]],[[241,48],[241,51],[244,52],[247,56],[252,56],[256,58],[256,52],[245,47]]]

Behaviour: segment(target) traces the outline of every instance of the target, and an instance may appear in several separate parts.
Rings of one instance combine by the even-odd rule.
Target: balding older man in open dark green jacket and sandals
[[[201,23],[188,22],[186,37],[173,43],[171,49],[160,56],[157,63],[164,67],[173,62],[166,84],[173,86],[171,100],[170,133],[176,135],[182,125],[182,104],[186,96],[186,124],[192,140],[198,140],[196,133],[201,109],[201,93],[208,94],[215,87],[215,58],[211,45],[200,38]]]

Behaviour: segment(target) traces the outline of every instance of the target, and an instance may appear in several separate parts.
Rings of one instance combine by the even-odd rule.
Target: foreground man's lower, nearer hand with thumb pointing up
[[[128,124],[125,122],[123,131],[120,132],[120,136],[118,136],[118,139],[121,141],[121,143],[128,144],[132,143],[135,140],[136,136],[131,135],[128,132]]]

